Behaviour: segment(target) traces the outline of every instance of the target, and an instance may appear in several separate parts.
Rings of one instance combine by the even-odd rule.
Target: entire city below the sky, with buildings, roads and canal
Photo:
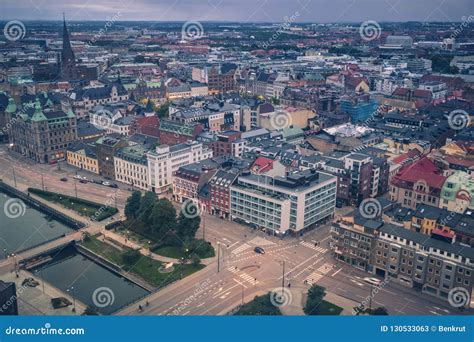
[[[1,22],[0,315],[472,315],[474,14],[304,11]]]

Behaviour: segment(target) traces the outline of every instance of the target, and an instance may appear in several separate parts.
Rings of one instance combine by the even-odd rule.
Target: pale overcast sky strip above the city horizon
[[[462,21],[474,0],[0,0],[0,20]],[[472,23],[474,25],[474,22]]]

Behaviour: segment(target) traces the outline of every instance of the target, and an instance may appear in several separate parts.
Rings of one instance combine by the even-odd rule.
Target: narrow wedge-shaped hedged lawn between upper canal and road
[[[44,191],[36,188],[28,188],[28,192],[37,195],[47,201],[62,205],[67,209],[74,210],[80,215],[89,217],[94,221],[102,221],[115,215],[117,208],[110,207],[107,203],[101,204],[82,198],[71,197],[56,192]]]

